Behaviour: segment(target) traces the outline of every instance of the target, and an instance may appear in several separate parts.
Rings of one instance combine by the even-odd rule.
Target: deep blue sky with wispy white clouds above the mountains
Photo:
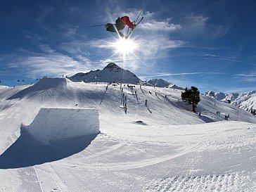
[[[123,56],[105,27],[118,16],[144,19]],[[256,89],[256,1],[1,0],[0,85],[103,69],[110,61],[143,80],[200,92]],[[22,81],[24,79],[24,82]],[[18,82],[20,80],[20,82]]]

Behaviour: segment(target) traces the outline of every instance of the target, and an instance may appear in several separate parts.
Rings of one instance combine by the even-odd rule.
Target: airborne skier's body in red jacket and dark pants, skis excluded
[[[135,23],[132,23],[129,20],[128,16],[123,16],[122,18],[117,18],[115,21],[115,24],[108,23],[105,25],[105,30],[108,32],[116,32],[120,35],[120,37],[125,37],[120,30],[123,30],[125,26],[128,26],[131,30],[134,30],[134,27],[136,26]]]

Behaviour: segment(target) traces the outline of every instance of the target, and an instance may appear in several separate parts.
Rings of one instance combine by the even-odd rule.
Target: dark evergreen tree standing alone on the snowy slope
[[[199,103],[200,99],[200,91],[196,87],[191,87],[191,89],[185,89],[185,92],[181,93],[181,99],[188,103],[188,105],[192,105],[192,111],[196,112],[196,105]]]

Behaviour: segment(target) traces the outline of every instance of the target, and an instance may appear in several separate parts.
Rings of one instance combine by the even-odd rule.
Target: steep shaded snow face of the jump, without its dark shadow
[[[98,110],[41,108],[27,131],[43,143],[99,133]]]

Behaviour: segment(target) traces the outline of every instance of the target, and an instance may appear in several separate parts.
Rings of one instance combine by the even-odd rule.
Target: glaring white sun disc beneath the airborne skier
[[[118,39],[114,44],[113,44],[115,50],[117,53],[122,53],[122,54],[127,54],[127,53],[132,53],[138,45],[132,41],[132,39]]]

